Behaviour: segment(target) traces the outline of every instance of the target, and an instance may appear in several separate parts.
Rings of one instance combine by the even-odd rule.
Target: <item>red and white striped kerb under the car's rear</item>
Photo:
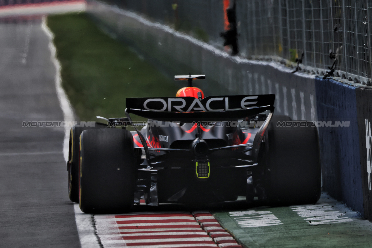
[[[241,248],[206,211],[94,215],[103,247]]]

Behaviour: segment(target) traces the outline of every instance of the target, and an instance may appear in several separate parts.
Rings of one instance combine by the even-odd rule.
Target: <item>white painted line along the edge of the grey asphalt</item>
[[[45,16],[42,19],[42,30],[49,38],[49,50],[51,52],[51,60],[55,66],[55,89],[57,91],[58,101],[63,112],[64,121],[74,121],[74,114],[71,108],[70,101],[68,101],[67,95],[61,86],[61,64],[57,59],[56,51],[53,44],[54,35],[47,26],[47,20]],[[65,138],[63,142],[63,156],[65,161],[68,160],[68,141],[70,135],[70,127],[65,127]],[[97,237],[94,235],[94,228],[92,222],[92,215],[81,212],[79,205],[74,204],[75,220],[77,231],[80,239],[80,245],[82,248],[100,248]]]

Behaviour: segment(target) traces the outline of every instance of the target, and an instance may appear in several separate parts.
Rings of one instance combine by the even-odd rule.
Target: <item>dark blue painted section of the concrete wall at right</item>
[[[363,214],[356,87],[315,79],[319,121],[350,121],[350,127],[319,127],[323,189]]]

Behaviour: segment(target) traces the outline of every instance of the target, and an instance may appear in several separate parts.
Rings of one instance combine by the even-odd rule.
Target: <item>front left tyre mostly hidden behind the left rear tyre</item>
[[[79,136],[87,129],[108,128],[106,124],[96,123],[94,127],[78,127],[74,125],[70,130],[68,145],[68,198],[72,202],[79,202]]]

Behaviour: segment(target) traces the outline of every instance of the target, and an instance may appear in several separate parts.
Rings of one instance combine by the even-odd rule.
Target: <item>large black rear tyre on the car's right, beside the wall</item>
[[[273,116],[267,129],[267,200],[273,205],[316,203],[321,194],[321,167],[316,127],[278,127],[288,116]],[[266,143],[266,142],[265,142]]]

